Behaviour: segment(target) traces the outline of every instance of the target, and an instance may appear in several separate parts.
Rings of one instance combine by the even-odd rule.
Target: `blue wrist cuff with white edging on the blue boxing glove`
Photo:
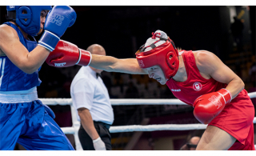
[[[42,37],[40,38],[38,45],[46,48],[47,50],[53,51],[55,49],[55,46],[57,46],[57,43],[60,38],[56,34],[51,33],[50,31],[45,30],[45,32],[42,34]]]

